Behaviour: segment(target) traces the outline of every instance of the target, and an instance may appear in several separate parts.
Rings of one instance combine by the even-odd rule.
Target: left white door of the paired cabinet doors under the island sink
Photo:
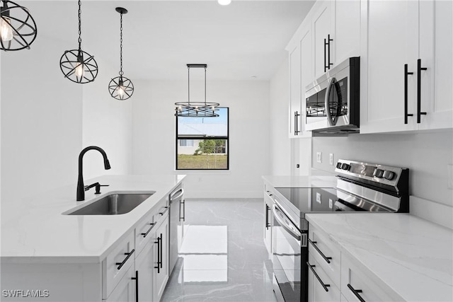
[[[151,238],[154,238],[150,234]],[[142,252],[135,258],[135,270],[138,272],[139,301],[153,301],[154,243],[149,241]]]

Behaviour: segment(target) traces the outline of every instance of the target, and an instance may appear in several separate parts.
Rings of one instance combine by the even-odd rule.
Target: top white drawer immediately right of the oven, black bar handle
[[[340,248],[332,242],[326,233],[309,225],[309,255],[312,255],[319,265],[331,276],[340,288]]]

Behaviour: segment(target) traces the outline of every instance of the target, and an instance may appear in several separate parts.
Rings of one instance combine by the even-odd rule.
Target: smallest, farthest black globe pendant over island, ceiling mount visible
[[[117,76],[108,83],[108,92],[112,95],[112,98],[127,100],[134,93],[134,84],[132,84],[132,81],[122,76],[124,74],[122,72],[122,15],[127,13],[127,9],[117,7],[115,10],[120,13],[120,76]]]

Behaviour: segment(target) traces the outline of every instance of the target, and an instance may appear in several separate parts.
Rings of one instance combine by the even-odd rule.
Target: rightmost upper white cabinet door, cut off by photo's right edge
[[[452,18],[452,1],[420,1],[420,129],[453,127]]]

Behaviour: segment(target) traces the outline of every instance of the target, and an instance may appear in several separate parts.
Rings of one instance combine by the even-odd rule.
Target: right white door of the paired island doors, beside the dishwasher
[[[153,294],[154,301],[160,301],[168,281],[168,211],[165,212],[164,216],[161,218],[161,221],[158,222],[155,238],[155,242],[160,241],[160,243],[153,245],[155,255],[153,267],[157,267],[159,265],[159,269],[154,269]],[[160,238],[160,240],[158,238]]]

